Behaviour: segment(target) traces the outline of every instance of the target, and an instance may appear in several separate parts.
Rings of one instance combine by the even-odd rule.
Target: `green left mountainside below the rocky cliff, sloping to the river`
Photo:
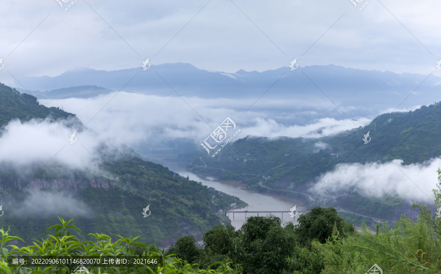
[[[100,231],[109,235],[141,236],[143,241],[162,246],[170,245],[180,234],[200,238],[203,232],[221,223],[215,211],[231,203],[241,203],[235,197],[214,193],[200,183],[174,175],[167,167],[130,154],[103,164],[110,176],[75,173],[69,178],[38,176],[32,180],[46,182],[44,191],[69,191],[87,205],[86,214],[60,214],[63,218],[76,218],[75,224],[85,234]],[[26,203],[29,194],[17,188],[5,188],[13,185],[10,182],[16,178],[2,177],[0,204],[5,214],[0,218],[0,227],[10,227],[26,241],[42,235],[42,229],[56,220],[55,215],[47,216],[45,212],[15,214],[14,208]],[[69,184],[69,181],[74,183]],[[216,204],[212,203],[214,194]],[[148,205],[151,214],[144,218],[143,208]]]

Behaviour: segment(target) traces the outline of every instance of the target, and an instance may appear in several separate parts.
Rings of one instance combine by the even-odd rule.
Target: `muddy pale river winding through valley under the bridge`
[[[171,171],[177,172],[179,175],[183,177],[189,176],[190,180],[194,180],[196,182],[201,182],[203,185],[214,187],[216,190],[219,190],[223,193],[235,196],[245,203],[248,204],[245,208],[237,208],[232,209],[230,211],[289,211],[291,207],[297,205],[297,210],[304,211],[306,208],[304,206],[303,201],[290,199],[286,196],[280,195],[272,195],[267,193],[258,193],[256,191],[244,190],[241,185],[238,183],[229,183],[229,182],[220,182],[215,178],[208,176],[201,176],[191,173],[189,171],[186,172],[185,165],[179,163],[165,162],[165,166],[167,166]],[[271,213],[279,218],[282,217],[281,213]],[[234,228],[239,229],[245,223],[245,214],[233,214],[229,213],[229,218],[231,220],[231,225]],[[246,217],[249,216],[257,216],[257,213],[247,213]],[[259,215],[261,216],[261,215]],[[297,224],[297,215],[294,220],[294,225]],[[282,223],[293,222],[293,218],[290,217],[289,213],[283,213]]]

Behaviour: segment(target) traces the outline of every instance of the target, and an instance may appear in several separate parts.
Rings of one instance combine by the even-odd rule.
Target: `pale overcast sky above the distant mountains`
[[[75,0],[73,0],[75,1]],[[0,2],[0,82],[88,67],[191,63],[235,72],[343,67],[429,74],[441,58],[439,1]],[[8,73],[9,72],[9,73]]]

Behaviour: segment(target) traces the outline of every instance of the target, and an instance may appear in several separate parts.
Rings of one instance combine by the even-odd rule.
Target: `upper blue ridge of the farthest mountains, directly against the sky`
[[[191,64],[161,64],[151,65],[147,71],[142,68],[127,68],[113,71],[80,68],[68,70],[61,75],[49,77],[24,77],[23,84],[29,90],[50,91],[76,86],[99,86],[105,89],[124,91],[170,90],[173,88],[185,91],[184,95],[205,95],[208,97],[253,95],[261,94],[278,78],[271,90],[275,92],[296,92],[317,90],[317,87],[302,73],[302,71],[323,91],[369,91],[378,92],[384,89],[390,91],[412,91],[417,88],[427,75],[390,71],[363,70],[343,68],[335,65],[307,66],[291,71],[288,67],[266,70],[263,72],[239,70],[236,73],[209,72],[198,69]],[[138,73],[139,72],[139,73]],[[164,82],[158,75],[164,78]],[[138,73],[138,74],[137,74]],[[135,76],[135,74],[137,74]],[[134,77],[135,76],[135,77]],[[131,81],[130,79],[134,77]],[[431,75],[422,87],[439,86],[441,78]],[[207,91],[213,94],[207,94]],[[216,92],[222,92],[216,94]],[[237,92],[240,92],[237,94]],[[257,93],[256,93],[257,92]],[[374,96],[375,94],[372,94]],[[203,96],[201,96],[203,97]]]

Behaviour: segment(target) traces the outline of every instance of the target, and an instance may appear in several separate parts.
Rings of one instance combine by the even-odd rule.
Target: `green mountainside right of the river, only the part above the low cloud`
[[[301,185],[341,162],[373,162],[401,159],[404,164],[441,156],[441,104],[423,106],[413,112],[381,114],[365,127],[321,138],[245,137],[228,144],[215,158],[201,151],[211,172],[228,170],[236,175],[271,176],[269,183],[289,176]],[[371,141],[363,137],[370,131]],[[326,148],[320,149],[323,144]],[[231,149],[230,149],[231,148]],[[336,155],[334,155],[336,154]],[[337,155],[338,154],[338,155]],[[324,159],[323,159],[324,158]],[[246,160],[246,162],[244,161]],[[194,171],[203,171],[202,161],[193,161]],[[208,172],[209,173],[209,172]]]

